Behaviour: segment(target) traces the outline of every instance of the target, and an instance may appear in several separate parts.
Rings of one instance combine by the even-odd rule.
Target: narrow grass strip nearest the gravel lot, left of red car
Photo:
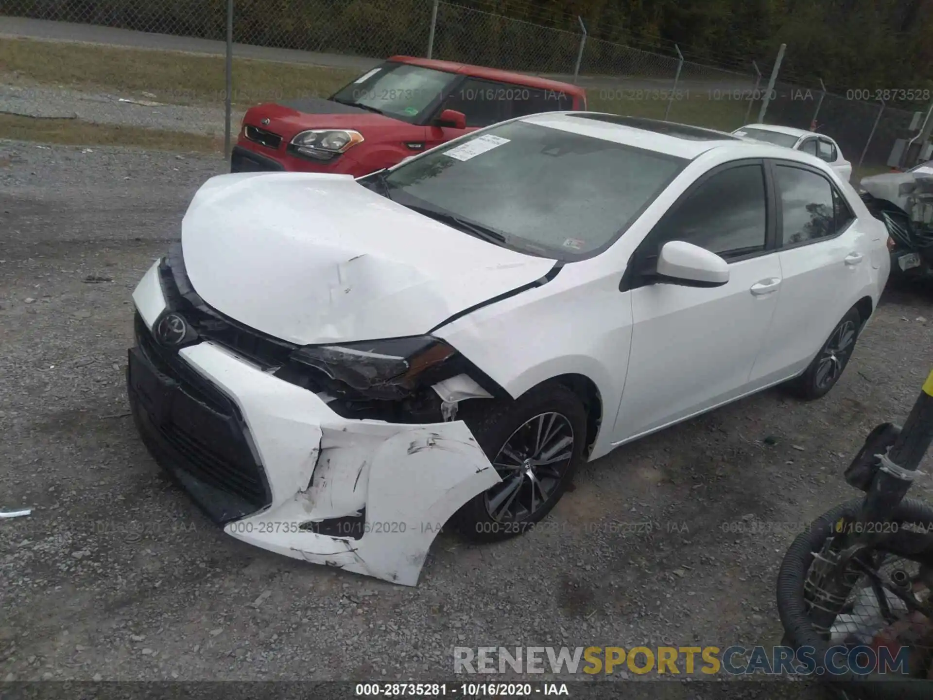
[[[67,146],[134,146],[186,153],[222,153],[223,139],[196,133],[92,124],[81,119],[34,119],[0,114],[0,133],[15,141]]]

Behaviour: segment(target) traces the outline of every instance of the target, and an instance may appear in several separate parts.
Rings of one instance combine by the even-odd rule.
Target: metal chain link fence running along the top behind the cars
[[[427,55],[577,82],[594,110],[725,131],[759,119],[770,77],[752,61],[746,72],[725,70],[685,61],[679,50],[669,55],[588,36],[582,21],[556,29],[455,0],[0,0],[0,16],[224,40],[229,7],[234,53],[297,49],[313,52],[306,63],[358,72],[365,62],[350,57]],[[810,129],[815,116],[816,131],[835,138],[854,165],[884,166],[895,140],[911,135],[912,111],[822,87],[775,85],[766,121]]]

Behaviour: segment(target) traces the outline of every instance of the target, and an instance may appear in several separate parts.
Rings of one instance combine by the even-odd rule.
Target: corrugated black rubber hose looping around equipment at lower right
[[[823,549],[832,526],[843,516],[855,517],[861,506],[861,498],[836,506],[817,518],[791,543],[777,576],[777,610],[781,623],[795,649],[812,647],[815,650],[815,672],[832,687],[866,700],[929,700],[933,697],[933,680],[895,680],[890,676],[876,674],[858,677],[851,673],[830,676],[825,672],[825,667],[823,673],[820,673],[822,659],[830,645],[813,628],[805,607],[803,583],[813,565],[814,553]],[[933,528],[933,507],[915,498],[905,498],[890,519],[898,524],[911,523],[922,528]]]

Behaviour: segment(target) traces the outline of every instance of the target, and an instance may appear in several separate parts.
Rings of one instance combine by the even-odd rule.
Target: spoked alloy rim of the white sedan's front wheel
[[[485,497],[496,522],[522,522],[550,502],[574,455],[574,429],[561,413],[539,413],[509,436],[493,459],[502,478]]]

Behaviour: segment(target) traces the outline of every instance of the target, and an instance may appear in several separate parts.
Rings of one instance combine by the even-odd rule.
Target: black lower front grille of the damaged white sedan
[[[169,417],[161,423],[149,421],[174,452],[175,466],[255,510],[268,506],[272,498],[265,472],[246,440],[236,404],[177,353],[162,347],[138,313],[134,327],[137,347],[163,385],[177,385]]]

